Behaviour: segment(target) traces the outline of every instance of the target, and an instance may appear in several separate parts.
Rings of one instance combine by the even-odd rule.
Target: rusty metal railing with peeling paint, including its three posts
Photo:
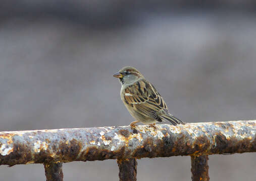
[[[256,120],[185,125],[0,132],[0,165],[43,163],[47,181],[62,163],[117,159],[120,180],[136,180],[136,159],[191,156],[192,180],[209,180],[208,155],[256,152]]]

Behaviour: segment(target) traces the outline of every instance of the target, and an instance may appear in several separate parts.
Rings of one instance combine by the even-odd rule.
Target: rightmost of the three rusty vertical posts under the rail
[[[191,156],[192,181],[209,181],[208,155]]]

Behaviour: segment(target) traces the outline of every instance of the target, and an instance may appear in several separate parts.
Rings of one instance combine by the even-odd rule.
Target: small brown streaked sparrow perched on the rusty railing
[[[155,123],[163,120],[168,120],[173,125],[185,124],[169,113],[164,99],[155,86],[147,81],[136,68],[123,67],[113,76],[119,78],[122,84],[122,102],[136,120],[130,124],[131,127],[142,122],[156,128]]]

